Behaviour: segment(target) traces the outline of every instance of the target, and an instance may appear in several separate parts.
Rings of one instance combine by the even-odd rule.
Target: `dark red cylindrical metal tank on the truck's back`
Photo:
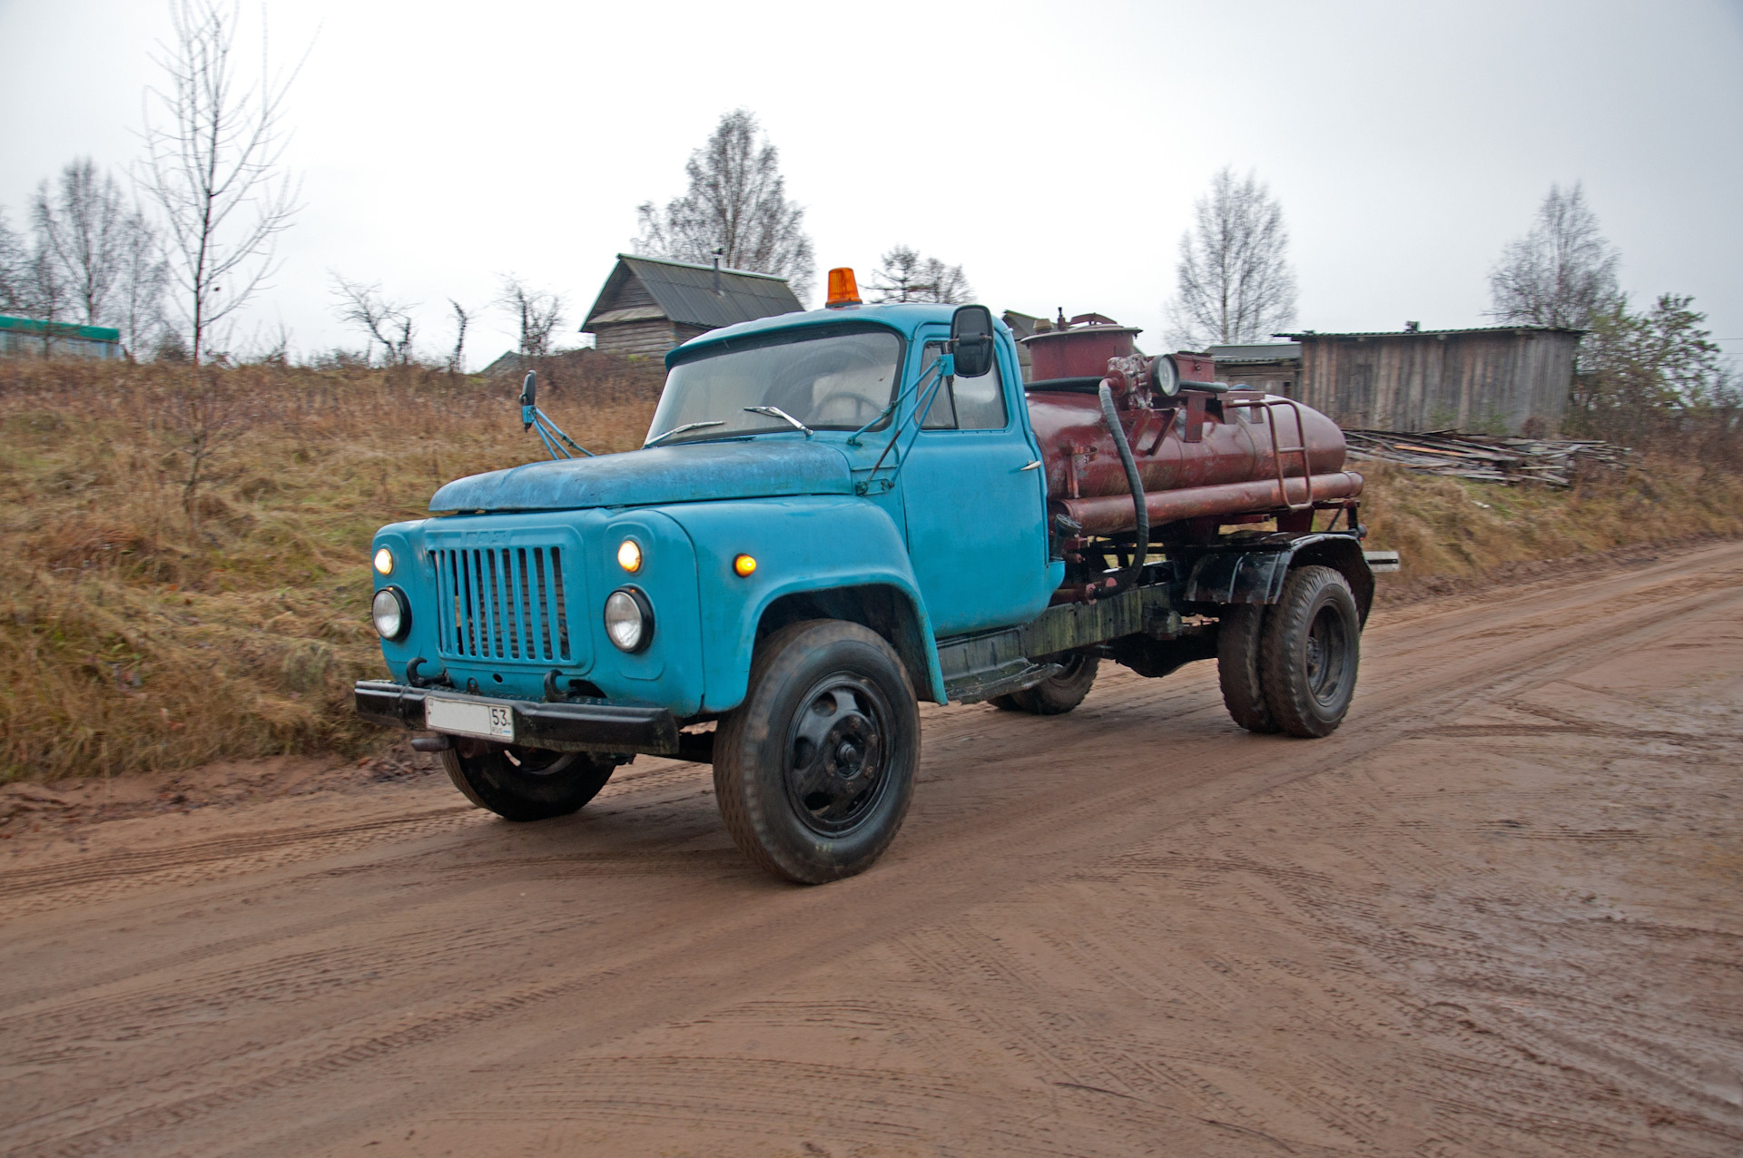
[[[1105,362],[1102,371],[1107,371]],[[1032,390],[1028,416],[1041,442],[1053,510],[1075,519],[1086,535],[1133,529],[1131,493],[1100,399],[1088,392]],[[1154,409],[1121,411],[1121,425],[1138,463],[1150,526],[1203,515],[1264,514],[1309,498],[1361,493],[1361,475],[1344,470],[1344,432],[1292,399],[1248,390],[1185,390],[1166,402],[1159,399]],[[1281,472],[1278,444],[1283,448]],[[1293,449],[1300,446],[1306,454]],[[1312,475],[1311,491],[1306,474]]]

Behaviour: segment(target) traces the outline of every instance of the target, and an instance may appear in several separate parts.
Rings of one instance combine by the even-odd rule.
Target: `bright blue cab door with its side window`
[[[917,334],[917,374],[946,336]],[[995,345],[987,374],[945,380],[901,465],[908,555],[938,637],[1027,622],[1058,585],[1048,566],[1046,470],[1007,347]]]

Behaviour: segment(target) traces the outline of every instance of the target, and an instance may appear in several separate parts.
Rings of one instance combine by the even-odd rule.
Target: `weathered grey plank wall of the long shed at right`
[[[1570,331],[1302,334],[1295,397],[1344,427],[1555,430],[1574,380]],[[1534,423],[1536,425],[1536,423]]]

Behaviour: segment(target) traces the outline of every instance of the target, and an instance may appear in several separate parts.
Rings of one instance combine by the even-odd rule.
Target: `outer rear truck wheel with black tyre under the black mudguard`
[[[1260,676],[1265,705],[1293,737],[1328,737],[1356,695],[1361,615],[1349,582],[1332,568],[1299,568],[1265,615]]]

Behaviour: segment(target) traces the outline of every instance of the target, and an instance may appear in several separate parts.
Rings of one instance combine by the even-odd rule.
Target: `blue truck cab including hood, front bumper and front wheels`
[[[1182,575],[1152,582],[1147,549],[1102,606],[1058,606],[1084,543],[983,306],[760,319],[666,366],[643,449],[458,479],[375,536],[390,677],[357,710],[425,733],[476,805],[537,820],[636,754],[704,761],[746,855],[821,883],[894,839],[917,700],[1068,710],[1109,630],[1187,639],[1154,630]],[[532,381],[523,406],[547,421]]]

